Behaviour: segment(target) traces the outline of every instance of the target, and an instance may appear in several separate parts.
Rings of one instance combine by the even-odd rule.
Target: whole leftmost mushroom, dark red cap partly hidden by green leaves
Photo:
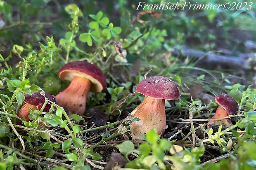
[[[19,110],[18,116],[25,121],[31,121],[28,118],[28,115],[30,114],[29,108],[32,110],[42,109],[43,104],[45,103],[45,98],[56,103],[55,96],[46,92],[45,92],[45,96],[41,95],[40,91],[33,92],[31,95],[24,94],[24,96],[25,96],[24,102],[26,104],[21,107],[21,109]],[[47,103],[45,105],[45,108],[43,109],[43,112],[49,112],[50,108],[51,108],[51,105]],[[22,125],[21,121],[17,121],[17,123]]]

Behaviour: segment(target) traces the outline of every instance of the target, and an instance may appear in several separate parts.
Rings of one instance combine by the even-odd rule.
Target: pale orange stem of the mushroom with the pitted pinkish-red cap
[[[141,136],[149,130],[156,128],[160,135],[164,133],[166,127],[165,100],[145,96],[131,114],[140,119],[131,124],[131,135],[135,140],[144,140]]]

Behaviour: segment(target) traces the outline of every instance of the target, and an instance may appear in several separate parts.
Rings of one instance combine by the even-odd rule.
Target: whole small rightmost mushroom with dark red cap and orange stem
[[[225,116],[234,115],[238,110],[238,104],[231,95],[228,94],[220,94],[215,97],[216,102],[219,104],[216,113],[212,117],[212,119],[220,119]],[[221,119],[221,120],[211,120],[208,124],[217,124],[223,125],[226,127],[232,126],[232,123],[229,118]],[[209,126],[207,126],[209,128]]]

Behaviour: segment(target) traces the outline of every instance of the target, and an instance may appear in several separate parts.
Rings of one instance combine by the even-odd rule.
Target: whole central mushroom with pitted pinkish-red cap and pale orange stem
[[[141,136],[156,128],[160,135],[166,128],[165,100],[178,100],[180,93],[174,82],[163,76],[154,76],[142,80],[136,91],[145,95],[143,101],[131,114],[139,118],[131,124],[131,135],[135,140],[144,140]]]

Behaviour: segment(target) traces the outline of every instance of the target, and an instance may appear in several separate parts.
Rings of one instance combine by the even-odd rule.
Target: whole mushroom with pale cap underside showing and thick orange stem
[[[89,91],[101,92],[106,86],[106,77],[97,65],[74,61],[59,70],[59,78],[71,83],[64,91],[56,95],[59,106],[69,114],[83,115]]]

